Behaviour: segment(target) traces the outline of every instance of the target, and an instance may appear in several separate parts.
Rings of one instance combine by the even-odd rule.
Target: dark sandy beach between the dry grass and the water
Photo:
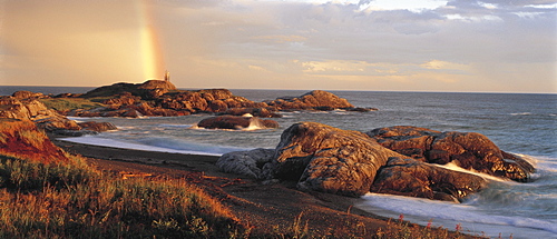
[[[52,141],[68,152],[89,158],[99,169],[123,177],[169,177],[195,183],[218,198],[257,232],[281,231],[291,227],[300,215],[309,228],[334,231],[335,236],[350,232],[364,237],[387,226],[385,218],[352,207],[355,198],[302,192],[295,189],[295,182],[262,183],[224,173],[215,166],[218,160],[215,156],[128,150],[59,139]]]

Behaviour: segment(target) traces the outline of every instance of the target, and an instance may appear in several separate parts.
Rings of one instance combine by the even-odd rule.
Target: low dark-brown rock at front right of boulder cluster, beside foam
[[[393,157],[375,177],[371,191],[458,202],[487,183],[479,176]]]

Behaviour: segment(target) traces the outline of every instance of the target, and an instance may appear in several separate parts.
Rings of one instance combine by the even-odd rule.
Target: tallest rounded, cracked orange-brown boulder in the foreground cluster
[[[369,192],[377,171],[389,157],[403,157],[358,131],[315,122],[284,130],[276,155],[264,166],[268,178],[297,180],[301,190],[344,196]]]

